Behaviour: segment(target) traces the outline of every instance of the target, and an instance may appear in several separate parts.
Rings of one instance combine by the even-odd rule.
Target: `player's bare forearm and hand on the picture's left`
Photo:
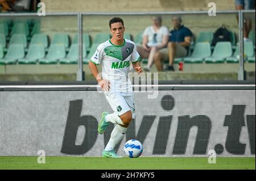
[[[104,91],[109,91],[109,82],[105,79],[102,79],[101,74],[98,73],[97,65],[94,64],[92,61],[89,61],[89,68],[93,74],[93,77],[96,78],[98,84],[101,86],[101,89]]]

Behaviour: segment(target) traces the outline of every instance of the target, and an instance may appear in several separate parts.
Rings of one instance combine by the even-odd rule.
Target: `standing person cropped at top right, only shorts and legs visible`
[[[253,10],[255,9],[255,0],[235,0],[236,10]],[[238,16],[237,16],[238,20]],[[243,40],[250,41],[248,39],[250,30],[251,30],[251,19],[250,18],[244,18],[244,24],[243,24]]]

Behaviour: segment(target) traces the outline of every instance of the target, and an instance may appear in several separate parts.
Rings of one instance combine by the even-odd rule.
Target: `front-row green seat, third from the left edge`
[[[46,58],[40,58],[40,64],[57,64],[60,58],[66,56],[65,47],[63,44],[53,44],[49,47]]]

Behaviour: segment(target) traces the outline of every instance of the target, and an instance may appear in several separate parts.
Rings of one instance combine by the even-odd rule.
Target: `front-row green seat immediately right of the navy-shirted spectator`
[[[183,58],[185,63],[203,63],[205,57],[211,54],[209,42],[198,42],[195,45],[193,53],[189,57]]]

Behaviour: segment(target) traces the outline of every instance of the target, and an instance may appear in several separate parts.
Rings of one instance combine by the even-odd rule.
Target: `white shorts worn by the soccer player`
[[[108,92],[105,93],[112,110],[121,116],[127,111],[131,111],[133,119],[135,118],[135,107],[133,93],[127,94],[122,92]]]

